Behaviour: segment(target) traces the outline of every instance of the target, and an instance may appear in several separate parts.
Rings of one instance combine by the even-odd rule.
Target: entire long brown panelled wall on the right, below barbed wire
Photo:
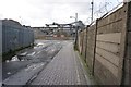
[[[127,32],[128,12],[130,11],[124,4],[106,17],[97,20],[95,25],[79,33],[79,41],[82,41],[79,44],[79,50],[82,49],[83,58],[86,59],[92,74],[100,85],[120,85],[126,77],[127,72],[123,73],[123,70],[128,71],[126,70],[128,63],[126,66],[123,63],[126,51],[127,58],[130,58],[131,35],[130,29]]]

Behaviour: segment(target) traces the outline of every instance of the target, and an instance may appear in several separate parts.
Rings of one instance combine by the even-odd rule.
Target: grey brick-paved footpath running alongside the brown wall
[[[31,85],[88,85],[90,79],[73,50],[67,42],[53,60],[39,73]]]

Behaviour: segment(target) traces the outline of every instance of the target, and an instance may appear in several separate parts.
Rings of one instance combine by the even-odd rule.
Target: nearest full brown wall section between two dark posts
[[[102,84],[120,84],[124,42],[126,7],[120,8],[97,24],[94,75]],[[122,37],[123,35],[123,37]],[[105,80],[103,80],[105,79]]]

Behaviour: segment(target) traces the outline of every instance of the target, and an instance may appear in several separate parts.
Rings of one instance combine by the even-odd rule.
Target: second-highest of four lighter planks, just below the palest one
[[[96,47],[103,48],[114,53],[119,53],[120,46],[117,44],[97,41]]]

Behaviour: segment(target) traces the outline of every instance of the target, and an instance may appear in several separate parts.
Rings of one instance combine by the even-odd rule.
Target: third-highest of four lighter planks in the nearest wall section
[[[119,66],[119,59],[120,58],[117,57],[116,54],[108,52],[108,51],[100,49],[100,48],[96,48],[96,53],[104,57],[106,60],[108,60],[109,62],[111,62],[116,66]]]

